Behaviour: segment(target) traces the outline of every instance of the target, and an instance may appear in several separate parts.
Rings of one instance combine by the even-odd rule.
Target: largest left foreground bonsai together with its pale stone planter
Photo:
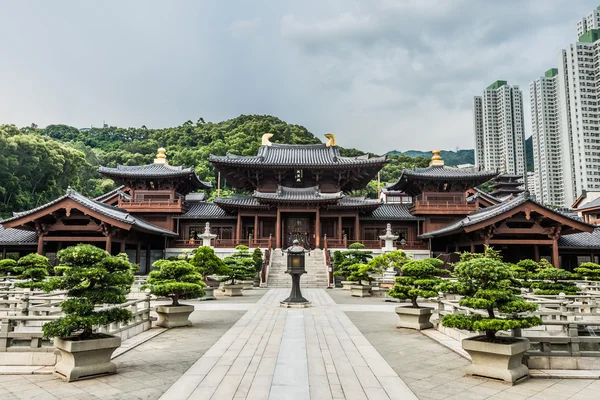
[[[133,284],[133,265],[125,254],[111,256],[97,247],[80,244],[58,252],[59,276],[50,278],[44,290],[66,290],[61,303],[64,316],[44,324],[44,337],[54,337],[60,358],[55,374],[67,381],[116,372],[110,361],[121,345],[118,336],[94,332],[98,325],[127,322],[131,312],[120,307]]]

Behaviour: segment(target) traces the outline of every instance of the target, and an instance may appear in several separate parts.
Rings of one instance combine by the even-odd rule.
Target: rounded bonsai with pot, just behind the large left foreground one
[[[143,288],[158,297],[169,297],[171,304],[156,306],[158,322],[164,328],[190,326],[189,316],[194,306],[180,304],[179,300],[197,299],[204,296],[204,282],[196,267],[185,260],[158,260],[148,274]]]

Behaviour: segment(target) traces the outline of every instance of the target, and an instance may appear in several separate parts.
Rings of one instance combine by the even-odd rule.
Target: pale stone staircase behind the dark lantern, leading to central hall
[[[306,274],[303,274],[300,278],[300,287],[326,288],[327,269],[323,250],[312,250],[310,256],[307,253],[305,257]],[[270,288],[291,288],[292,278],[285,273],[286,270],[287,254],[282,254],[281,249],[273,250],[267,286]]]

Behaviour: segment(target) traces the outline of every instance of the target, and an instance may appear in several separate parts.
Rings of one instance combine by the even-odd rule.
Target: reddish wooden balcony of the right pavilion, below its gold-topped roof
[[[476,204],[467,203],[461,192],[423,192],[416,196],[410,206],[414,215],[422,214],[469,214],[477,210]]]

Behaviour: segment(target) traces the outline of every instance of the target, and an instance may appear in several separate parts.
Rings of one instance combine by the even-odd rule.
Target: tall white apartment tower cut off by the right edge
[[[600,190],[600,30],[561,51],[558,68],[565,204]]]

